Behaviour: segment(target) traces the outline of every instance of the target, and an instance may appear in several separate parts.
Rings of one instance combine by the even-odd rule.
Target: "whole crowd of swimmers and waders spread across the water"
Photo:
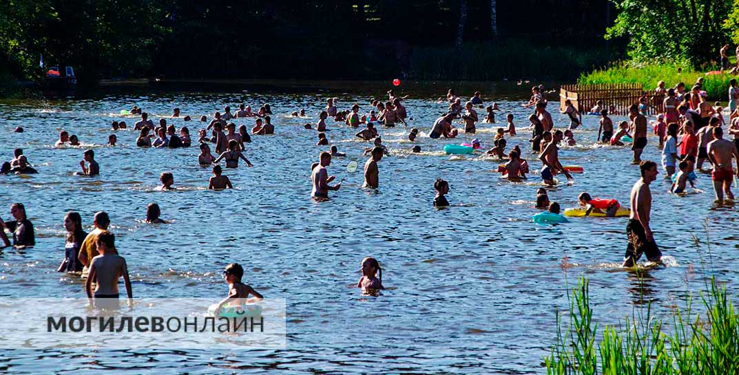
[[[672,189],[675,192],[684,190],[686,181],[690,181],[693,164],[696,162],[695,156],[698,156],[698,168],[701,168],[703,161],[708,159],[714,165],[713,179],[716,186],[716,194],[719,196],[719,187],[725,187],[729,198],[732,198],[729,190],[732,170],[732,156],[737,154],[734,143],[723,141],[721,139],[721,125],[723,118],[721,117],[721,109],[714,109],[712,106],[706,106],[704,97],[701,96],[700,82],[696,83],[692,92],[684,93],[681,86],[675,89],[664,90],[664,83],[655,91],[655,95],[663,94],[664,90],[664,115],[660,115],[654,125],[654,132],[659,137],[659,147],[663,148],[662,163],[665,171],[671,176],[675,172],[676,160],[679,163],[680,172],[678,173],[675,184]],[[733,91],[732,91],[733,90]],[[733,93],[733,94],[732,94]],[[732,80],[732,89],[730,95],[733,102],[732,106],[732,128],[729,130],[735,137],[739,136],[739,111],[736,110],[736,103],[739,100],[739,89],[736,82]],[[307,123],[305,128],[313,128],[315,126],[318,131],[318,142],[316,145],[329,145],[324,131],[327,130],[326,120],[333,118],[336,122],[341,122],[348,127],[363,127],[361,131],[355,134],[362,140],[373,141],[373,147],[367,148],[365,155],[369,154],[369,159],[364,165],[364,187],[377,188],[379,185],[378,162],[383,156],[388,155],[387,148],[382,144],[376,125],[385,127],[395,126],[396,123],[407,125],[406,118],[408,116],[402,100],[406,97],[398,97],[392,90],[388,92],[388,100],[372,100],[372,111],[369,114],[359,114],[360,106],[354,104],[350,110],[339,111],[336,107],[336,99],[327,100],[327,106],[324,111],[319,114],[318,122],[313,125]],[[483,100],[480,92],[475,92],[470,100],[466,101],[464,106],[462,100],[454,94],[452,89],[446,95],[449,107],[445,109],[443,114],[435,120],[429,131],[429,137],[432,139],[455,138],[460,134],[460,129],[454,127],[454,122],[459,120],[463,124],[463,132],[466,134],[474,134],[476,132],[475,124],[479,122],[479,117],[475,107],[482,108]],[[556,173],[564,174],[568,181],[572,181],[573,177],[568,169],[559,162],[559,145],[564,142],[567,145],[575,145],[572,130],[582,123],[582,114],[574,108],[572,103],[565,103],[565,110],[562,114],[567,114],[570,120],[568,128],[564,131],[554,129],[554,120],[547,111],[548,101],[545,98],[545,92],[541,86],[532,89],[531,100],[523,106],[533,108],[534,112],[528,117],[529,128],[532,135],[528,142],[531,142],[531,150],[539,156],[542,162],[542,169],[539,176],[544,185],[555,185]],[[613,122],[610,120],[609,111],[601,108],[601,103],[591,109],[591,112],[599,113],[602,119],[599,125],[598,139],[601,142],[610,143],[612,145],[623,145],[624,137],[633,138],[633,156],[634,163],[640,165],[641,179],[634,185],[631,196],[631,205],[633,210],[629,223],[627,224],[628,246],[624,257],[624,266],[633,266],[642,253],[646,253],[650,261],[659,261],[661,252],[654,242],[649,227],[649,210],[651,208],[651,196],[649,183],[655,179],[657,175],[656,165],[650,161],[641,160],[641,152],[647,145],[647,119],[642,114],[644,107],[634,104],[629,109],[630,123],[623,121],[619,124],[619,131],[614,133]],[[485,123],[495,123],[495,111],[500,111],[497,104],[492,103],[486,107],[486,115],[483,119]],[[159,125],[155,126],[149,120],[146,112],[134,106],[129,113],[139,114],[140,120],[134,124],[134,129],[139,131],[136,140],[137,147],[155,147],[155,148],[180,148],[190,147],[191,137],[189,129],[186,126],[180,128],[179,135],[174,125],[168,125],[166,119],[160,119]],[[258,112],[252,112],[250,106],[241,104],[239,110],[231,113],[231,108],[226,106],[223,113],[219,111],[214,113],[211,121],[205,116],[200,117],[200,123],[203,128],[198,131],[197,142],[200,147],[198,162],[200,165],[212,166],[213,176],[211,177],[208,188],[220,190],[231,188],[231,182],[228,176],[222,175],[222,168],[218,164],[223,161],[226,168],[238,168],[239,159],[242,159],[248,166],[252,163],[244,156],[245,143],[251,142],[252,135],[273,134],[274,125],[271,123],[270,115],[272,111],[269,104],[261,106]],[[304,116],[304,110],[293,112],[295,117]],[[180,109],[174,109],[171,115],[173,118],[180,118]],[[254,117],[254,126],[251,132],[247,130],[245,125],[236,129],[236,124],[230,120],[234,117]],[[191,117],[182,117],[185,122],[191,121]],[[409,119],[412,120],[412,119]],[[678,125],[680,124],[680,125]],[[113,122],[112,128],[126,128],[125,122]],[[705,129],[709,129],[706,131]],[[22,129],[16,129],[22,131]],[[678,131],[681,134],[681,142],[676,142]],[[415,141],[419,131],[417,128],[409,129],[408,139]],[[485,154],[497,157],[501,161],[505,161],[505,165],[501,166],[500,172],[506,179],[517,182],[526,179],[528,171],[528,162],[522,159],[522,151],[518,145],[505,152],[506,140],[505,134],[514,137],[516,128],[514,125],[513,114],[507,114],[505,128],[497,128],[494,137],[494,147],[486,151]],[[633,137],[632,137],[633,134]],[[115,145],[117,138],[115,134],[109,137],[109,145]],[[737,142],[735,140],[735,142]],[[67,131],[61,131],[56,146],[79,145],[79,140],[75,135],[69,135]],[[217,156],[211,154],[211,145]],[[680,146],[680,154],[677,154],[675,148]],[[473,140],[471,148],[480,148],[480,141]],[[663,147],[664,146],[664,147]],[[413,152],[420,152],[420,146],[415,145]],[[334,156],[344,156],[338,152],[336,145],[330,147],[330,151],[323,151],[319,154],[319,162],[313,164],[311,171],[311,182],[313,189],[311,196],[317,201],[328,199],[330,190],[338,190],[341,182],[336,185],[330,185],[335,176],[329,176],[326,167],[330,165]],[[728,164],[727,164],[728,163]],[[81,171],[79,174],[85,176],[96,176],[100,173],[100,166],[95,160],[95,153],[92,149],[84,151],[84,159],[80,162]],[[726,172],[728,171],[728,172]],[[26,156],[21,149],[15,150],[15,157],[6,162],[2,166],[3,173],[37,173],[37,171],[29,164]],[[728,176],[727,176],[728,173]],[[739,173],[739,172],[738,172]],[[162,185],[161,190],[173,190],[174,176],[170,172],[164,172],[160,176]],[[726,184],[728,181],[728,185]],[[721,185],[723,184],[723,185]],[[443,179],[437,179],[434,184],[437,191],[433,204],[436,207],[448,206],[446,194],[449,193],[449,183]],[[586,208],[585,216],[590,213],[597,212],[604,216],[613,217],[619,210],[621,205],[616,199],[600,199],[593,198],[589,193],[583,192],[579,195],[580,204]],[[549,213],[559,214],[559,204],[549,202],[546,190],[540,188],[537,191],[537,208],[547,209]],[[16,203],[10,208],[14,221],[0,221],[3,229],[7,229],[13,235],[13,246],[16,247],[33,247],[35,244],[33,234],[33,224],[27,219],[25,207],[23,204]],[[146,221],[149,223],[166,222],[160,219],[160,207],[151,203],[146,210]],[[64,218],[64,227],[67,230],[67,244],[65,247],[65,257],[62,264],[58,267],[60,272],[71,272],[80,274],[86,278],[85,290],[89,297],[95,299],[104,299],[107,297],[118,298],[118,279],[123,278],[126,286],[126,292],[132,297],[131,284],[129,281],[128,270],[124,258],[118,255],[115,248],[115,235],[109,232],[110,224],[109,216],[105,212],[95,213],[93,220],[94,230],[90,233],[84,232],[81,216],[79,213],[69,212]],[[5,235],[4,230],[0,230],[1,239],[6,246],[10,246],[10,240]],[[380,277],[376,277],[378,274]],[[358,282],[358,287],[366,290],[382,289],[381,283],[381,267],[375,258],[364,258],[361,266],[362,277]],[[244,283],[242,283],[243,268],[239,264],[230,264],[226,267],[223,277],[228,283],[228,297],[221,301],[221,305],[228,303],[234,298],[245,299],[250,295],[261,298],[258,292]],[[92,290],[92,284],[95,283],[95,289]]]

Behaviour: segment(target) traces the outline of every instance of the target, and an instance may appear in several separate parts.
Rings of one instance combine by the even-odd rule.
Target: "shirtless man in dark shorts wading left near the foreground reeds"
[[[641,258],[642,253],[647,254],[647,260],[659,262],[662,253],[654,241],[652,229],[649,226],[650,212],[652,210],[652,191],[650,182],[657,178],[657,165],[650,160],[644,160],[639,164],[641,179],[638,179],[631,188],[631,215],[629,224],[626,225],[626,234],[629,236],[629,244],[626,247],[623,267],[633,267]]]

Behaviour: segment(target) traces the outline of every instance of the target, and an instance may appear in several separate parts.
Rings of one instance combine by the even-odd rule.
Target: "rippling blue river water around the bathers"
[[[404,93],[402,93],[404,94]],[[415,143],[408,129],[381,128],[391,156],[379,163],[380,188],[361,188],[361,169],[348,173],[350,160],[361,163],[369,142],[355,129],[329,120],[330,142],[344,158],[334,158],[330,173],[346,181],[330,202],[310,196],[310,165],[318,160],[316,131],[302,125],[317,120],[327,92],[159,92],[95,94],[92,97],[0,104],[0,154],[12,157],[21,147],[39,173],[0,176],[0,213],[23,202],[36,230],[32,250],[0,250],[0,296],[82,297],[79,278],[55,272],[64,255],[63,217],[77,210],[85,224],[106,210],[117,247],[126,257],[134,296],[225,297],[220,271],[239,262],[245,283],[265,297],[287,300],[287,349],[252,351],[0,351],[0,370],[38,374],[223,374],[277,371],[279,374],[540,374],[542,357],[554,342],[555,309],[567,306],[566,291],[580,275],[590,278],[590,297],[599,322],[619,323],[651,300],[653,314],[671,320],[672,306],[704,289],[717,275],[735,290],[739,278],[737,207],[714,204],[709,176],[697,187],[706,193],[674,196],[664,173],[653,182],[653,228],[667,266],[637,277],[619,269],[626,247],[625,218],[578,219],[557,226],[531,222],[539,181],[512,184],[493,170],[498,162],[481,156],[449,156],[447,143],[474,137],[491,146],[494,128],[514,114],[519,134],[508,149],[521,145],[532,171],[540,162],[529,153],[530,131],[521,97],[486,93],[503,112],[497,124],[478,124],[474,136],[458,140],[426,137],[446,108],[437,97],[405,101],[410,125],[421,131]],[[360,103],[367,94],[332,92],[339,108]],[[551,95],[554,96],[554,95]],[[270,103],[274,136],[253,136],[245,165],[226,170],[234,190],[208,191],[209,168],[197,164],[197,147],[135,147],[134,117],[120,117],[132,104],[149,111],[154,122],[175,106],[197,120],[230,104]],[[554,103],[552,103],[554,104]],[[551,111],[557,108],[552,105]],[[290,117],[306,109],[310,117]],[[483,118],[483,110],[478,110]],[[566,117],[553,113],[562,128]],[[628,148],[595,145],[598,118],[585,116],[575,131],[578,145],[561,150],[563,164],[585,167],[575,183],[549,191],[552,202],[576,205],[581,191],[628,202],[638,167]],[[115,132],[119,144],[106,147],[112,120],[126,120]],[[624,120],[622,117],[615,117]],[[235,120],[237,125],[253,120]],[[168,119],[179,129],[182,120]],[[16,126],[25,132],[13,133]],[[202,123],[186,123],[193,137]],[[54,148],[58,131],[77,134],[84,147]],[[644,159],[659,160],[656,138]],[[423,153],[412,154],[418,144]],[[101,175],[74,176],[85,148],[95,148]],[[160,192],[158,177],[174,173],[175,191]],[[449,181],[453,207],[432,207],[433,182]],[[171,224],[145,224],[146,204],[157,202]],[[707,252],[704,223],[709,224]],[[694,235],[698,238],[695,241]],[[387,289],[368,297],[356,289],[365,256],[378,258]],[[567,264],[567,266],[562,266]],[[695,272],[691,272],[695,269]],[[41,366],[41,367],[39,367]]]

